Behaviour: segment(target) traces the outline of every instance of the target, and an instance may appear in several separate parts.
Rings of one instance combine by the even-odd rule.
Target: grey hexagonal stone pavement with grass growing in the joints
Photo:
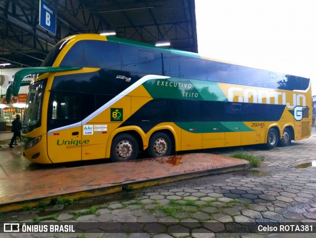
[[[1,214],[2,222],[69,222],[79,232],[0,237],[315,238],[316,223],[313,234],[216,233],[224,226],[234,229],[243,223],[316,222],[316,167],[310,166],[316,160],[315,128],[313,131],[309,139],[288,147],[244,147],[245,152],[264,157],[260,168],[81,199],[75,205],[71,200],[56,199],[54,205],[41,204],[42,209],[26,207],[25,211]],[[210,152],[229,155],[230,150]],[[305,168],[294,168],[297,165]],[[116,229],[119,233],[113,232]]]

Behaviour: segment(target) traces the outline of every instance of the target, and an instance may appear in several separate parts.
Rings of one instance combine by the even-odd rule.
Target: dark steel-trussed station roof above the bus
[[[39,25],[40,0],[0,1],[0,64],[38,67],[61,39],[80,33],[116,36],[197,52],[195,0],[45,0],[56,9],[56,35]]]

